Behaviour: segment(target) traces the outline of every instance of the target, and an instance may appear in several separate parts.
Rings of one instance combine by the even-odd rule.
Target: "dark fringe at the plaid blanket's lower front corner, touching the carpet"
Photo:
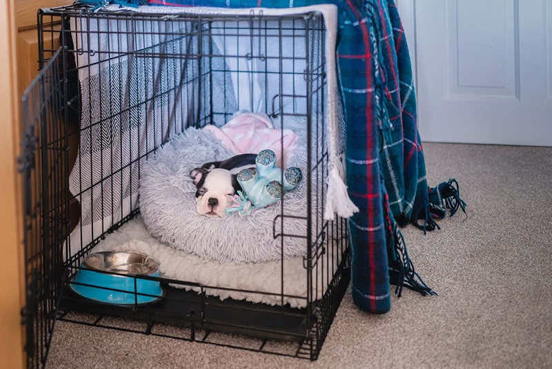
[[[397,266],[399,270],[395,270],[398,273],[397,287],[395,288],[395,294],[400,297],[403,287],[410,290],[419,292],[422,296],[437,295],[436,292],[431,290],[426,283],[422,280],[420,275],[414,270],[414,264],[408,257],[406,245],[404,243],[404,237],[397,225],[394,225],[393,236],[395,238],[395,258],[397,258]]]

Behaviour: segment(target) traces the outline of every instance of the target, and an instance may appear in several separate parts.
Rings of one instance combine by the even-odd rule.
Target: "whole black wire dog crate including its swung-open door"
[[[41,41],[41,73],[22,107],[28,366],[45,363],[56,320],[317,359],[350,278],[346,220],[327,220],[323,210],[332,140],[323,14],[168,15],[72,5],[40,10],[38,19],[39,34],[52,35],[40,39],[54,41]],[[157,261],[159,276],[127,276],[135,286],[130,303],[75,293],[86,256],[110,242],[146,242],[121,237],[125,227],[147,219],[143,190],[152,162],[175,142],[196,142],[183,137],[224,126],[244,110],[271,117],[282,137],[295,131],[295,150],[304,151],[302,192],[295,196],[301,211],[290,207],[286,193],[270,207],[270,225],[262,231],[279,256],[222,262],[234,272],[242,265],[260,268],[250,269],[252,280],[252,270],[265,272],[270,263],[271,274],[247,287],[230,281],[234,272],[210,284],[193,272],[179,278]],[[206,151],[224,154],[217,150]],[[191,151],[179,159],[183,173],[188,158],[190,166],[199,160],[201,150]],[[182,196],[194,201],[193,191]],[[184,220],[198,216],[178,212]],[[243,224],[256,227],[257,211],[233,217],[243,218],[240,231],[247,230]],[[230,242],[228,219],[210,220],[222,231],[206,220],[196,232],[223,234]],[[286,254],[292,243],[301,245],[297,256]],[[149,247],[175,250],[170,259],[194,254],[159,245]],[[299,274],[288,275],[291,263]],[[289,292],[290,280],[299,280],[302,292]],[[147,303],[141,297],[151,294],[136,288],[144,281],[163,290]]]

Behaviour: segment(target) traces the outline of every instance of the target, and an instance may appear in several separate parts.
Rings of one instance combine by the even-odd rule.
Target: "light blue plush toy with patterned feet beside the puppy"
[[[276,166],[276,154],[269,149],[257,154],[255,167],[238,173],[237,182],[243,192],[235,199],[237,205],[226,209],[228,214],[233,211],[248,213],[248,202],[257,209],[272,205],[282,199],[286,191],[295,189],[303,178],[301,169],[296,167],[284,169],[282,176],[282,169]]]

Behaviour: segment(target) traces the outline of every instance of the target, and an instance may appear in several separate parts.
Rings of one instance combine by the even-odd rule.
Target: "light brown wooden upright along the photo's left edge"
[[[0,357],[6,368],[24,368],[24,333],[21,308],[24,305],[23,225],[21,176],[17,173],[19,152],[19,100],[14,0],[0,1],[0,234],[2,235],[3,277],[0,289]]]

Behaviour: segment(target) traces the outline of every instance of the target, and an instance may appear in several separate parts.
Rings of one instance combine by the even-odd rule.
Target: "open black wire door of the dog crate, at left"
[[[61,97],[62,55],[50,59],[21,100],[27,367],[46,364],[61,295],[62,249],[67,236],[67,147]]]

